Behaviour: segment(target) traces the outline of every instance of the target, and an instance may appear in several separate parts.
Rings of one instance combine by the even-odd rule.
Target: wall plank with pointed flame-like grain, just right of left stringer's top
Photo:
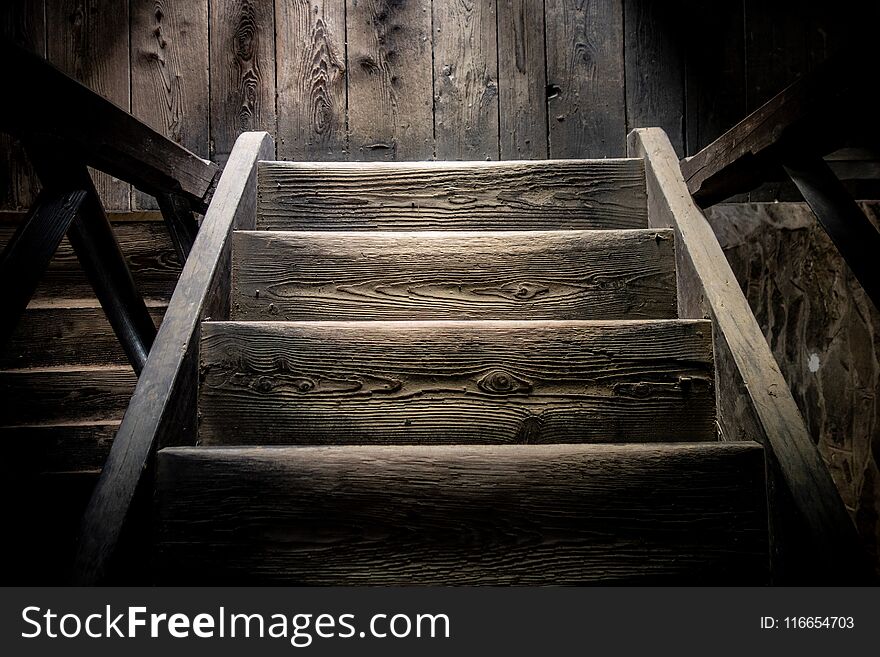
[[[275,3],[278,157],[348,159],[345,0]]]

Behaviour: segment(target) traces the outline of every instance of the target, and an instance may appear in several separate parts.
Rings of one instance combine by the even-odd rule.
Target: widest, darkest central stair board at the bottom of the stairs
[[[756,443],[173,448],[164,584],[767,581]]]

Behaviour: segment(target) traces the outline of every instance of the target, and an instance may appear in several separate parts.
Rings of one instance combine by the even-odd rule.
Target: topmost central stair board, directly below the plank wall
[[[257,228],[646,228],[641,159],[261,162]]]

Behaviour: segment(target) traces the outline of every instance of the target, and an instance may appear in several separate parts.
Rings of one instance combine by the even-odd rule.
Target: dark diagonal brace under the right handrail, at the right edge
[[[792,157],[784,167],[874,306],[880,309],[880,233],[821,157]]]

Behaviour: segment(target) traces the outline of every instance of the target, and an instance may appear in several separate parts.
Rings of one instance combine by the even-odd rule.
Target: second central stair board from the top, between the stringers
[[[235,319],[668,319],[670,230],[238,232]]]

